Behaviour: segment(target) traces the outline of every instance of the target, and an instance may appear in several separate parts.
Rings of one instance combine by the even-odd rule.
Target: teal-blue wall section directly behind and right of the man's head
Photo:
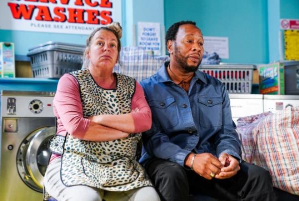
[[[232,63],[267,63],[267,0],[164,0],[166,29],[179,20],[193,20],[205,36],[229,38]]]

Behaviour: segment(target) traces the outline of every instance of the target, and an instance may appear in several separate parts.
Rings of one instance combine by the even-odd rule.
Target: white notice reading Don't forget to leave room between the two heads
[[[138,44],[146,51],[161,55],[160,23],[138,22]]]

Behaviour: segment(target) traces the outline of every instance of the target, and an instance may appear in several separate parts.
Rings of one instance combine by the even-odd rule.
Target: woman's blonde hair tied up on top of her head
[[[91,40],[93,38],[93,36],[96,34],[96,32],[98,32],[99,30],[107,30],[107,31],[111,31],[117,38],[117,50],[118,50],[118,57],[120,56],[120,51],[122,48],[122,44],[121,44],[121,37],[122,37],[122,31],[123,28],[121,26],[121,24],[119,22],[112,22],[111,24],[108,24],[107,26],[101,26],[99,28],[96,28],[95,30],[93,30],[88,38],[86,39],[86,48],[84,50],[84,55],[83,55],[83,66],[85,68],[89,68],[89,58],[87,58],[87,52],[90,49],[90,45],[91,45]]]

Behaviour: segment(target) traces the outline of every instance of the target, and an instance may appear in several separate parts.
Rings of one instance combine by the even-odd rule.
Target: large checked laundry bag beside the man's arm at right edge
[[[273,185],[299,195],[299,108],[238,119],[242,158],[268,170]]]

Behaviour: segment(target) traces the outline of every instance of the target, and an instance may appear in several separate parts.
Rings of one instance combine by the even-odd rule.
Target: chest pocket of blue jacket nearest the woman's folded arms
[[[164,129],[172,128],[177,125],[177,108],[174,97],[167,96],[164,99],[149,100],[149,107],[153,112],[154,118]]]

